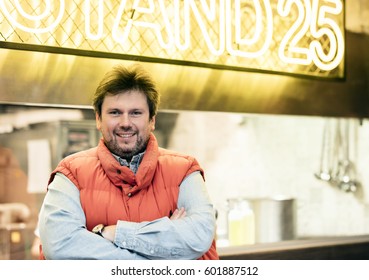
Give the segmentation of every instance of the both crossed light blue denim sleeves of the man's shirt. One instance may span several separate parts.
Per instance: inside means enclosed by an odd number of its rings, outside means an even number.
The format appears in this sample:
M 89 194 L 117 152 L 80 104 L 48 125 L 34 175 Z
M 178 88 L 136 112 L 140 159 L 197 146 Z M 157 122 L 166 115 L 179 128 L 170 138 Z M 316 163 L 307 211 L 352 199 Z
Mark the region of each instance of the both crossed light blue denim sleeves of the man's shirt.
M 182 182 L 177 205 L 186 209 L 186 217 L 118 221 L 111 242 L 86 229 L 79 191 L 58 173 L 39 216 L 44 255 L 46 259 L 197 259 L 209 249 L 215 235 L 213 205 L 199 172 Z

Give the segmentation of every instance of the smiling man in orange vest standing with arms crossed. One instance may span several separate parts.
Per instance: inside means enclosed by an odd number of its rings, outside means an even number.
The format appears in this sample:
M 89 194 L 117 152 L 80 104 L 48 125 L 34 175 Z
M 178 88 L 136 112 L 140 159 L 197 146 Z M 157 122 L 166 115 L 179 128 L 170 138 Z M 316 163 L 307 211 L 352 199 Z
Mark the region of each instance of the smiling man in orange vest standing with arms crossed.
M 53 171 L 40 212 L 46 259 L 218 259 L 214 209 L 196 159 L 158 147 L 159 93 L 139 66 L 94 95 L 97 147 Z

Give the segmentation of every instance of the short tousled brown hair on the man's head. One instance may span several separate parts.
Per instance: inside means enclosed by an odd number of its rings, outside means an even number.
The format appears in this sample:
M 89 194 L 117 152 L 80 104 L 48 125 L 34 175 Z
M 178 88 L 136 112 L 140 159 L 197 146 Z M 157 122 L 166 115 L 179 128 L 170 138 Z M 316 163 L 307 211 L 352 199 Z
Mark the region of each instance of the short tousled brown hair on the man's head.
M 139 64 L 129 67 L 117 65 L 105 74 L 93 97 L 95 112 L 101 116 L 101 106 L 106 95 L 130 90 L 138 90 L 146 95 L 150 119 L 154 117 L 158 111 L 160 94 L 151 76 Z

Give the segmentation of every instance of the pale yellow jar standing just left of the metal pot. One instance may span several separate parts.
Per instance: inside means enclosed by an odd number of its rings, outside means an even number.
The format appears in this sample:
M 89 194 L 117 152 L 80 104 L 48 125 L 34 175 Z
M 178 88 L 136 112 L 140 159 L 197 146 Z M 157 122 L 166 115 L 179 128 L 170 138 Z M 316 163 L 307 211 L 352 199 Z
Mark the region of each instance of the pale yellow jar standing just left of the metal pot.
M 228 240 L 229 245 L 255 243 L 255 217 L 247 199 L 228 199 Z

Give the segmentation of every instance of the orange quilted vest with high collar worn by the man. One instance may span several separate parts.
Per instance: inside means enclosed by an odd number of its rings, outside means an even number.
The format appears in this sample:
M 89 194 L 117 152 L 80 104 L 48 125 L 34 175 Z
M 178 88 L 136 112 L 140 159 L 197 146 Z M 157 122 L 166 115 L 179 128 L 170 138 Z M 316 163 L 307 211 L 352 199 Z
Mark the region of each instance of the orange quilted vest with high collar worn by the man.
M 91 230 L 100 223 L 152 221 L 169 216 L 177 208 L 179 185 L 194 171 L 203 175 L 195 158 L 159 148 L 151 134 L 136 175 L 119 164 L 101 139 L 98 147 L 64 159 L 50 182 L 61 172 L 78 187 L 86 226 Z M 219 259 L 214 240 L 200 259 Z

